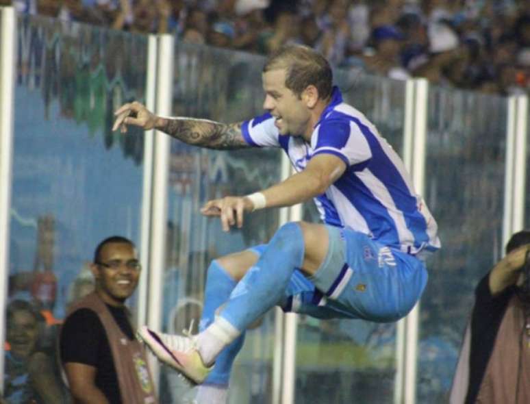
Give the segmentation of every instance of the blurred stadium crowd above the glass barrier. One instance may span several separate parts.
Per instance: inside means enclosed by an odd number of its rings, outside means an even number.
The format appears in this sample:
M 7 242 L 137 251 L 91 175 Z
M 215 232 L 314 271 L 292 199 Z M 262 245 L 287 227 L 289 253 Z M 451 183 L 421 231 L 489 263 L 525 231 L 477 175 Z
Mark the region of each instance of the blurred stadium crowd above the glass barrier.
M 525 93 L 524 0 L 0 0 L 19 12 L 267 54 L 303 43 L 335 66 L 442 86 Z

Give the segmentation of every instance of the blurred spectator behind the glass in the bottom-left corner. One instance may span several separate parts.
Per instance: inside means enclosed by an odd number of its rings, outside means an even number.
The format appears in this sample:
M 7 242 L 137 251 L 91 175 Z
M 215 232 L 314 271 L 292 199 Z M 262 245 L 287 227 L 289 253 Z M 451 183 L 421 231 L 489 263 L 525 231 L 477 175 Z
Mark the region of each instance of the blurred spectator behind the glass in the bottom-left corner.
M 44 318 L 27 301 L 8 305 L 3 398 L 10 404 L 60 404 L 66 395 L 53 356 L 38 348 Z

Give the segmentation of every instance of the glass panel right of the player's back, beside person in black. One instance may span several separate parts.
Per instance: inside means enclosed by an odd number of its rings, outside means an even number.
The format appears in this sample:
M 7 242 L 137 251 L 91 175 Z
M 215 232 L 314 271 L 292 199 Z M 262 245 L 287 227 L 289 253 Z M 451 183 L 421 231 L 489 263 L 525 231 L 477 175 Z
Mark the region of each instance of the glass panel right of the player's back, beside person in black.
M 442 249 L 427 262 L 421 301 L 418 403 L 446 403 L 478 281 L 502 245 L 507 103 L 429 89 L 425 199 Z

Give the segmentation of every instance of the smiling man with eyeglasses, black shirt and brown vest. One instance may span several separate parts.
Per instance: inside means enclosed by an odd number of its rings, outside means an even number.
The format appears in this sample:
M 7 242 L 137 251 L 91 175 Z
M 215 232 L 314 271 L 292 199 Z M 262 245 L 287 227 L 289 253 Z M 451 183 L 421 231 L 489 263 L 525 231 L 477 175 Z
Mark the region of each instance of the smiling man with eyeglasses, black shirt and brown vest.
M 140 278 L 133 242 L 106 238 L 90 269 L 96 288 L 73 305 L 60 336 L 61 361 L 75 403 L 157 403 L 147 358 L 125 306 Z

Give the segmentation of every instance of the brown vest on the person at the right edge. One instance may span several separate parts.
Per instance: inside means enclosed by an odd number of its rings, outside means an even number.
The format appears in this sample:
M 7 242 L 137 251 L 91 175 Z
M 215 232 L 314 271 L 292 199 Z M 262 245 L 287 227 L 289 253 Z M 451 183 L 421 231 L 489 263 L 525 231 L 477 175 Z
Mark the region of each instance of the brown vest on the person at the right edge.
M 530 403 L 530 335 L 517 296 L 509 301 L 496 336 L 476 403 Z

